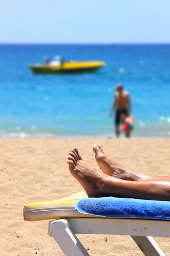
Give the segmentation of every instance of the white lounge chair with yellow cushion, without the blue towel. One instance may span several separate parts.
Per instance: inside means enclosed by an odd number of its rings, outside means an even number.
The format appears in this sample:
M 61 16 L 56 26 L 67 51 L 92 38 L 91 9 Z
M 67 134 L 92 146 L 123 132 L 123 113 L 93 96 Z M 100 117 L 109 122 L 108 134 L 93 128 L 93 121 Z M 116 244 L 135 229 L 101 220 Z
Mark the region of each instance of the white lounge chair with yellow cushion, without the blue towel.
M 75 234 L 128 235 L 145 256 L 165 256 L 152 236 L 170 237 L 170 221 L 84 214 L 75 209 L 79 198 L 87 198 L 87 195 L 79 192 L 57 201 L 28 204 L 24 207 L 24 219 L 37 221 L 59 218 L 49 222 L 48 235 L 55 239 L 66 256 L 89 255 Z

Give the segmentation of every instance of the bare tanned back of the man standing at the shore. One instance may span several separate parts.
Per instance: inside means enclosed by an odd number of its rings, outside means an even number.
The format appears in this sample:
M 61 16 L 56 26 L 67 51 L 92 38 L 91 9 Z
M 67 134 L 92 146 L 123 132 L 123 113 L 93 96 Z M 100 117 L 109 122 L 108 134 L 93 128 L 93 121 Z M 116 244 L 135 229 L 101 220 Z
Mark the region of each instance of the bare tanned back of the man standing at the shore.
M 127 105 L 130 103 L 129 94 L 126 91 L 121 93 L 115 93 L 115 106 L 118 109 L 126 109 Z

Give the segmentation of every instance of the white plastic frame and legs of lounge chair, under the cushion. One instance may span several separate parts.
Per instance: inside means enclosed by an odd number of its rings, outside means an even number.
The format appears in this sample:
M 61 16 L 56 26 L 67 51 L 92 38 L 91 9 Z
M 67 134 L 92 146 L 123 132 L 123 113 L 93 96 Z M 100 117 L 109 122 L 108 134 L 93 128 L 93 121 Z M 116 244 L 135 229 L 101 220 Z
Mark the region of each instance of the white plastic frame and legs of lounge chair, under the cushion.
M 75 234 L 128 235 L 145 256 L 165 256 L 152 236 L 170 237 L 170 221 L 136 218 L 66 218 L 50 221 L 52 236 L 66 256 L 89 256 Z

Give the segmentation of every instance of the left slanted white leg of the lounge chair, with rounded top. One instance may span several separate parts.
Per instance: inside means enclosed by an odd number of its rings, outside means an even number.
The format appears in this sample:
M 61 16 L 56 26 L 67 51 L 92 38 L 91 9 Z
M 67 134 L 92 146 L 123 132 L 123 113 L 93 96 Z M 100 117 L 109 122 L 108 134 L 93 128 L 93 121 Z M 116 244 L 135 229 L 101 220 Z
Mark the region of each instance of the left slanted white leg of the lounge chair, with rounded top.
M 71 225 L 65 219 L 50 222 L 49 236 L 52 236 L 66 256 L 89 256 L 77 236 L 71 230 Z

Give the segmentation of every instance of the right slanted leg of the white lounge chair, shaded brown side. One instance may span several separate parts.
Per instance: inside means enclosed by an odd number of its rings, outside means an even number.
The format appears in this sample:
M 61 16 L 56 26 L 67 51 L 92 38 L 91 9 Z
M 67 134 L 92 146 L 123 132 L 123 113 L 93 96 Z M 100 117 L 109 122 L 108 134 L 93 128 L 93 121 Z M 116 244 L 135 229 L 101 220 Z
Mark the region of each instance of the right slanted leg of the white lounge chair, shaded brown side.
M 165 256 L 152 236 L 131 236 L 145 256 Z

